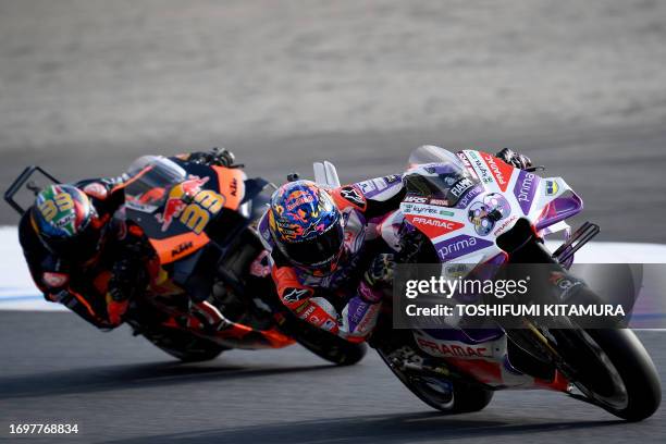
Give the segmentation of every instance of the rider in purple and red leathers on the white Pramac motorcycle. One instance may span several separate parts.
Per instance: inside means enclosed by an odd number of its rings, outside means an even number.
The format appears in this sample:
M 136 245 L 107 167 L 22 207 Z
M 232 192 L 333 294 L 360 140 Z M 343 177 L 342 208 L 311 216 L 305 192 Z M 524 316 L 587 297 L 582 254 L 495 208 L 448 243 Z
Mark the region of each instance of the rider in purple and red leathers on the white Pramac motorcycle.
M 531 165 L 508 149 L 497 157 Z M 295 181 L 275 190 L 258 229 L 282 303 L 312 325 L 365 341 L 393 280 L 397 246 L 382 232 L 398 229 L 391 218 L 404 197 L 402 175 L 335 188 Z

